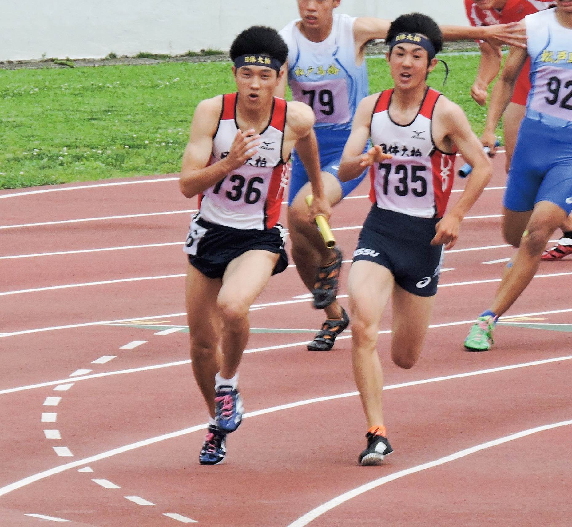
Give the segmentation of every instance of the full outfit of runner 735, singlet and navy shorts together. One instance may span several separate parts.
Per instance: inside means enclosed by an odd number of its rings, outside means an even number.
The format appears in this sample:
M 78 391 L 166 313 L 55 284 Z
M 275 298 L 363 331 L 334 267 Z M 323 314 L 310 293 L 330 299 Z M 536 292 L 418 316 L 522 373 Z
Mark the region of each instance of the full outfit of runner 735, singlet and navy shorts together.
M 418 296 L 437 292 L 443 245 L 430 244 L 451 195 L 455 152 L 442 152 L 432 138 L 431 118 L 440 93 L 428 88 L 419 113 L 407 125 L 392 121 L 393 90 L 380 93 L 370 136 L 392 159 L 370 168 L 367 216 L 353 260 L 387 267 L 395 282 Z

